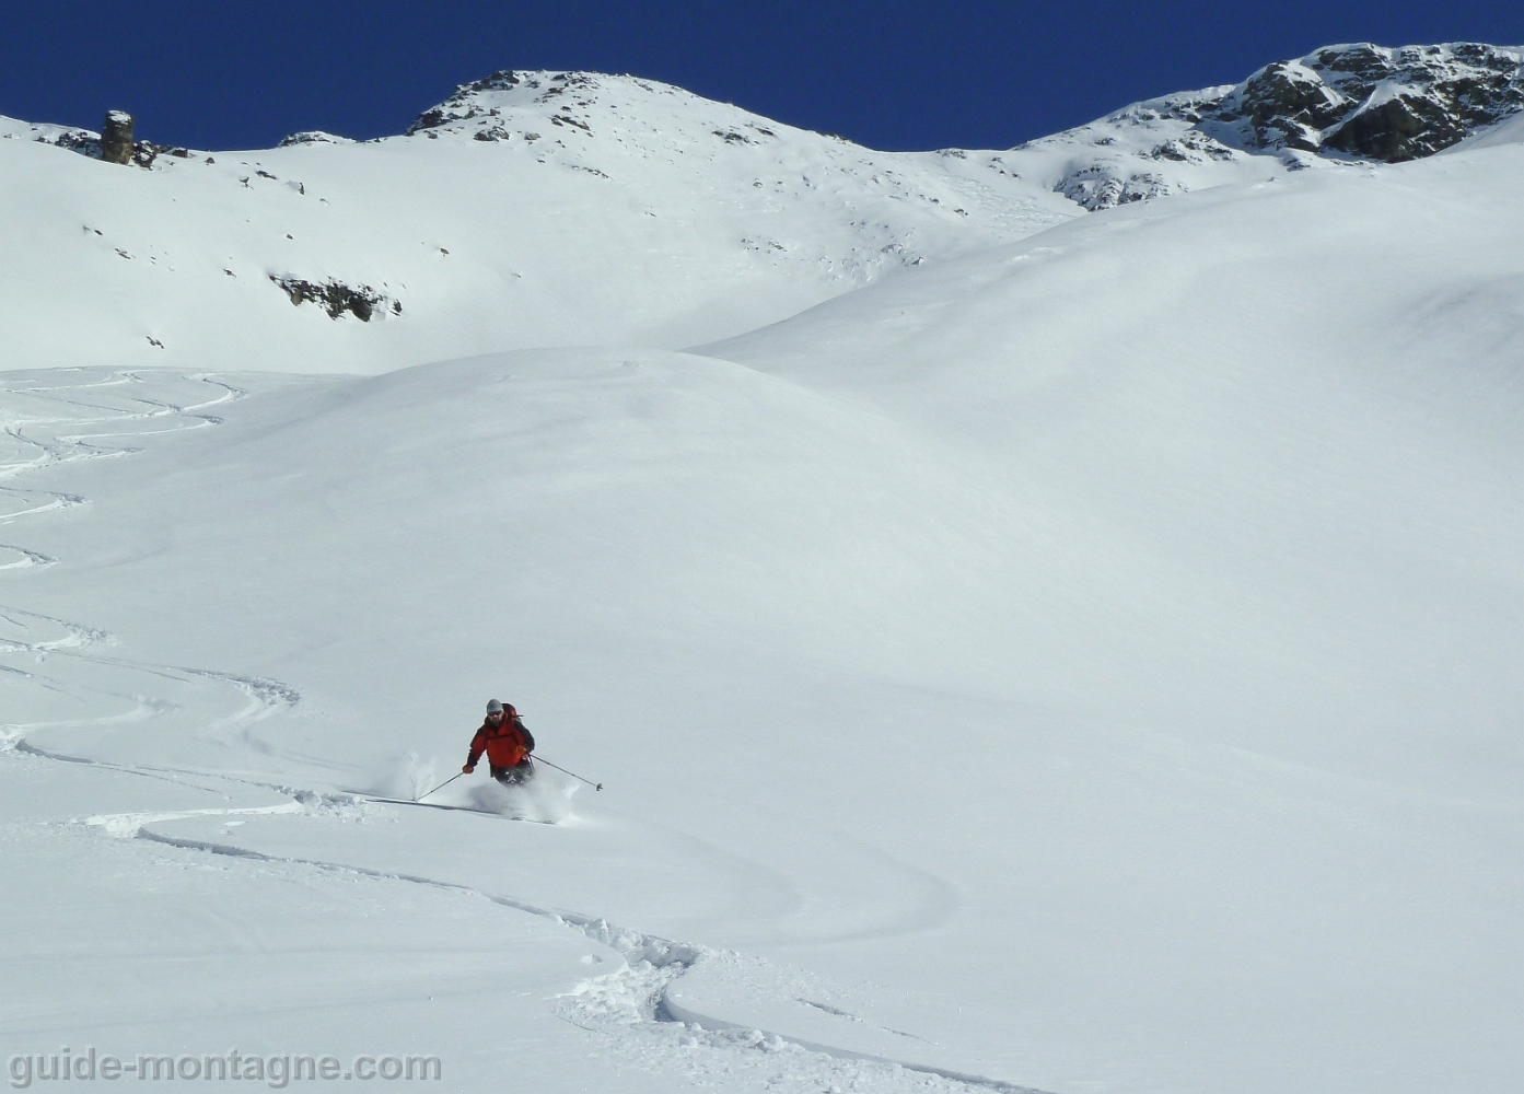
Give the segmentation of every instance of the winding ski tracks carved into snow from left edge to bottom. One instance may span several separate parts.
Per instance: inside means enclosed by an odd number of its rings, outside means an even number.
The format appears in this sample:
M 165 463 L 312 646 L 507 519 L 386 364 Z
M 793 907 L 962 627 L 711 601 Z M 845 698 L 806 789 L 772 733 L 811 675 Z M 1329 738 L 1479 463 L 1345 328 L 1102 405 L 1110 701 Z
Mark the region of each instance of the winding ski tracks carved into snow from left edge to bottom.
M 56 382 L 61 376 L 72 375 L 82 375 L 84 382 Z M 218 389 L 218 395 L 204 402 L 180 405 L 163 398 L 155 398 L 151 393 L 155 381 L 209 384 Z M 148 392 L 134 390 L 136 385 L 145 385 Z M 70 369 L 46 375 L 0 375 L 0 422 L 3 422 L 0 437 L 3 437 L 9 454 L 15 457 L 5 459 L 0 454 L 0 481 L 12 483 L 23 475 L 76 460 L 117 459 L 140 451 L 131 445 L 105 443 L 107 440 L 219 425 L 223 422 L 221 417 L 204 411 L 210 407 L 241 399 L 245 395 L 245 390 L 206 373 L 166 373 L 163 376 L 152 376 L 149 373 L 145 378 L 143 372 L 136 370 Z M 20 399 L 27 405 L 21 408 L 8 405 L 8 396 Z M 107 396 L 117 396 L 126 407 L 110 405 Z M 73 494 L 0 485 L 0 527 L 11 526 L 23 518 L 35 518 L 43 513 L 59 512 L 82 504 L 88 504 L 88 500 Z M 58 562 L 59 559 L 26 545 L 14 542 L 0 544 L 0 573 L 11 579 L 20 577 L 29 570 L 52 567 Z M 23 655 L 27 660 L 37 661 L 49 655 L 66 657 L 75 664 L 96 664 L 137 673 L 146 678 L 149 687 L 158 680 L 192 687 L 219 686 L 230 689 L 241 696 L 241 705 L 224 718 L 215 719 L 209 728 L 218 737 L 236 736 L 241 744 L 256 753 L 274 754 L 276 750 L 253 734 L 253 725 L 294 707 L 302 699 L 297 689 L 274 680 L 242 677 L 218 669 L 137 663 L 126 658 L 107 657 L 99 652 L 101 648 L 113 646 L 114 643 L 116 640 L 108 632 L 88 625 L 0 605 L 0 657 Z M 378 805 L 367 803 L 363 795 L 357 794 L 322 794 L 311 789 L 215 771 L 114 763 L 40 748 L 27 742 L 27 730 L 44 727 L 98 728 L 113 724 L 142 722 L 171 710 L 178 710 L 181 704 L 152 695 L 130 693 L 108 686 L 64 680 L 53 673 L 37 672 L 3 661 L 0 661 L 0 675 L 73 698 L 111 698 L 131 704 L 120 713 L 90 719 L 0 725 L 0 753 L 20 753 L 38 760 L 81 763 L 143 779 L 160 779 L 203 789 L 219 797 L 226 797 L 226 791 L 216 785 L 206 783 L 238 783 L 248 788 L 274 791 L 291 798 L 288 803 L 276 806 L 102 814 L 76 818 L 70 823 L 98 827 L 111 838 L 148 840 L 180 850 L 227 855 L 250 862 L 293 868 L 360 875 L 383 882 L 428 885 L 485 899 L 515 913 L 549 919 L 579 931 L 588 939 L 614 949 L 623 958 L 620 969 L 581 981 L 572 992 L 561 996 L 556 1004 L 556 1012 L 561 1018 L 590 1033 L 616 1041 L 629 1036 L 655 1036 L 658 1039 L 657 1054 L 668 1057 L 681 1054 L 681 1062 L 689 1070 L 695 1067 L 695 1053 L 707 1053 L 713 1057 L 709 1070 L 716 1076 L 727 1070 L 727 1060 L 735 1053 L 762 1053 L 770 1057 L 771 1064 L 780 1067 L 791 1064 L 792 1067 L 783 1067 L 785 1071 L 794 1073 L 791 1077 L 808 1080 L 818 1089 L 858 1089 L 860 1083 L 869 1082 L 878 1088 L 908 1089 L 913 1086 L 917 1091 L 968 1091 L 972 1088 L 998 1091 L 1000 1094 L 1044 1094 L 1042 1091 L 998 1079 L 986 1079 L 983 1076 L 963 1074 L 922 1064 L 855 1053 L 826 1044 L 785 1038 L 767 1030 L 736 1025 L 712 1015 L 687 1010 L 669 998 L 669 987 L 701 960 L 736 958 L 736 955 L 713 951 L 701 945 L 642 934 L 640 931 L 616 926 L 600 916 L 544 908 L 512 896 L 488 893 L 469 885 L 421 875 L 322 859 L 274 856 L 233 844 L 184 840 L 149 830 L 149 824 L 166 824 L 194 817 L 312 814 L 378 808 Z M 315 760 L 317 757 L 305 759 Z M 838 1007 L 806 998 L 796 1001 L 847 1021 L 864 1022 L 856 1015 Z M 920 1039 L 916 1035 L 902 1033 L 901 1030 L 885 1028 L 884 1032 L 902 1038 Z M 651 1048 L 651 1044 L 648 1042 L 646 1047 Z M 910 1073 L 914 1079 L 911 1080 L 904 1073 Z

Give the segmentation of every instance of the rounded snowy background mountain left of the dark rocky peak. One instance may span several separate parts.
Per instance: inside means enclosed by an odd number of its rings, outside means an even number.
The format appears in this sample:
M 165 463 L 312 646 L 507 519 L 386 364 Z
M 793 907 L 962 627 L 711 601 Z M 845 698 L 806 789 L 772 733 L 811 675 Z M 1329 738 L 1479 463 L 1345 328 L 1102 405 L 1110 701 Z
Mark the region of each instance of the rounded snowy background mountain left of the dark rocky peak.
M 9 123 L 0 184 L 29 210 L 0 226 L 9 367 L 56 364 L 62 317 L 72 364 L 373 373 L 678 347 L 1079 212 L 956 155 L 872 152 L 628 76 L 479 85 L 447 107 L 480 119 L 149 171 Z M 271 279 L 369 294 L 373 315 L 293 308 Z

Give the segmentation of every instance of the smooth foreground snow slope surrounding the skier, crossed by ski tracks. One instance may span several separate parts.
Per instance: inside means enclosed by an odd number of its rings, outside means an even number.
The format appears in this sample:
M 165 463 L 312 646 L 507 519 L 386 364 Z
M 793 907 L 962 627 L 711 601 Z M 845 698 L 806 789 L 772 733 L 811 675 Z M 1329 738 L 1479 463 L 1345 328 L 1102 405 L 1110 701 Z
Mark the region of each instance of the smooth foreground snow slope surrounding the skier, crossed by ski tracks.
M 686 352 L 0 373 L 0 1045 L 1512 1091 L 1521 169 L 1132 203 Z M 607 789 L 363 800 L 491 695 Z

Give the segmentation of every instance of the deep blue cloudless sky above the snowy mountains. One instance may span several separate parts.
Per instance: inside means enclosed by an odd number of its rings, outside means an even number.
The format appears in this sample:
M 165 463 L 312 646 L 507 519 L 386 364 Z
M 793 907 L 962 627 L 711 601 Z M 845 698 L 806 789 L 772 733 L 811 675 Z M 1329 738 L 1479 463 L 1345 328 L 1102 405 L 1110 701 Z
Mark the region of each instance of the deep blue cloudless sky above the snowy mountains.
M 884 149 L 1004 148 L 1317 46 L 1524 43 L 1524 5 L 14 0 L 0 114 L 268 146 L 399 133 L 497 69 L 629 72 Z

